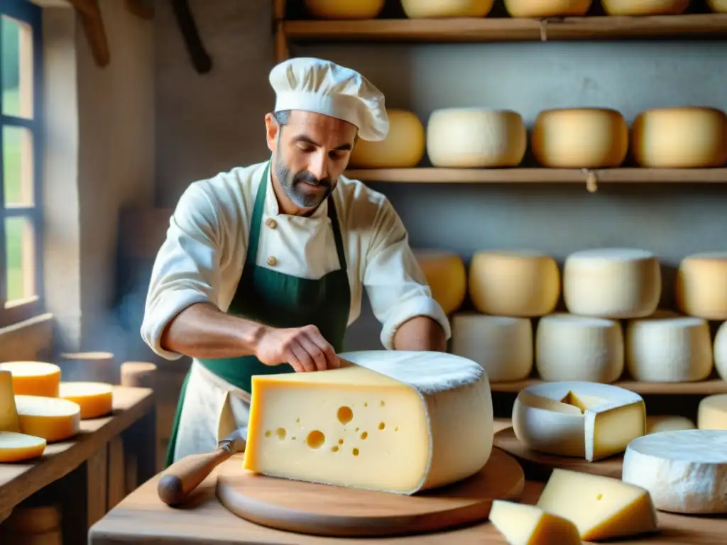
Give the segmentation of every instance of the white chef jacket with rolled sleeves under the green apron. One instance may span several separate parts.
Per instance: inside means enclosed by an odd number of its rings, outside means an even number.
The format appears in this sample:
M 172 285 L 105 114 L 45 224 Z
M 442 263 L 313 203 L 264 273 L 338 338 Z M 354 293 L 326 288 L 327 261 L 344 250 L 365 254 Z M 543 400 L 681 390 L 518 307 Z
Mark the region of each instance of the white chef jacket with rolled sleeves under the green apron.
M 228 309 L 245 265 L 252 209 L 266 163 L 193 182 L 177 203 L 154 262 L 141 327 L 142 338 L 161 357 L 182 356 L 160 346 L 164 328 L 179 312 L 198 302 Z M 340 269 L 329 200 L 309 217 L 283 214 L 271 174 L 265 183 L 255 265 L 312 279 Z M 348 265 L 348 325 L 361 314 L 365 286 L 387 350 L 393 349 L 397 328 L 415 316 L 436 320 L 449 339 L 449 320 L 432 298 L 406 229 L 385 195 L 341 176 L 332 198 Z

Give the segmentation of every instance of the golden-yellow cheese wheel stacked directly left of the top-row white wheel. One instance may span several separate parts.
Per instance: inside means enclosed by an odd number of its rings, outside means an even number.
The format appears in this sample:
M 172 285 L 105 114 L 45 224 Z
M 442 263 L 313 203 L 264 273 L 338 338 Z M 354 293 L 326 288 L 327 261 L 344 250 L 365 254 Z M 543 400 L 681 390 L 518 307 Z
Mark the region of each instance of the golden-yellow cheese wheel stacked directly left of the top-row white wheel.
M 542 316 L 561 296 L 555 259 L 534 250 L 478 251 L 470 262 L 469 292 L 475 308 L 499 316 Z

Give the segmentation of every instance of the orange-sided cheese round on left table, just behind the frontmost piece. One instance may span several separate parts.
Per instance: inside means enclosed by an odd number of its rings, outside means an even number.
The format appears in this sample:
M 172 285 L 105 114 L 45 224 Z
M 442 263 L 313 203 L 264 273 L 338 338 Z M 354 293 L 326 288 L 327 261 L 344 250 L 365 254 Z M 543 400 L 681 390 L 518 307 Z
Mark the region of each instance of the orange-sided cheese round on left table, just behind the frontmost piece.
M 70 439 L 81 431 L 81 407 L 60 397 L 16 395 L 20 432 L 48 443 Z

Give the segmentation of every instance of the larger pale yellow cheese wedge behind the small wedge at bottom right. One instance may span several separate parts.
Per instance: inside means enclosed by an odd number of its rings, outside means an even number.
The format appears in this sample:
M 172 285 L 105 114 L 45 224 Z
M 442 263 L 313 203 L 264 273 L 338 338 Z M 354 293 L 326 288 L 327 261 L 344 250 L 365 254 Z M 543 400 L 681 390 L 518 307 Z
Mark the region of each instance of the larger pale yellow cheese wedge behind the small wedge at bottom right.
M 553 469 L 537 506 L 573 522 L 583 541 L 637 536 L 658 528 L 648 491 L 603 475 Z

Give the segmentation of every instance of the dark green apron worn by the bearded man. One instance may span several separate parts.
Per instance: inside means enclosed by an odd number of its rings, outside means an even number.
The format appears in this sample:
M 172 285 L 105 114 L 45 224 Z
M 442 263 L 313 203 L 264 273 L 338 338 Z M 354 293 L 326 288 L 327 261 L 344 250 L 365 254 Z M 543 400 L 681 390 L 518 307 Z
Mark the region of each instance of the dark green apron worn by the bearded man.
M 333 198 L 329 198 L 328 217 L 331 220 L 336 242 L 339 270 L 334 270 L 318 280 L 311 280 L 278 273 L 265 267 L 257 267 L 255 265 L 257 244 L 260 239 L 260 225 L 265 207 L 269 170 L 270 162 L 268 161 L 255 196 L 245 265 L 235 296 L 230 302 L 228 313 L 276 328 L 294 328 L 312 324 L 321 331 L 336 352 L 342 352 L 350 312 L 350 286 L 346 272 L 343 239 Z M 212 373 L 248 393 L 252 391 L 251 382 L 254 375 L 294 372 L 288 363 L 266 366 L 254 356 L 216 358 L 198 360 L 198 362 Z M 177 412 L 172 425 L 172 436 L 169 438 L 169 446 L 166 451 L 167 467 L 174 461 L 177 430 L 189 376 L 188 373 L 180 390 Z

